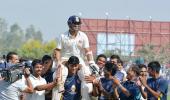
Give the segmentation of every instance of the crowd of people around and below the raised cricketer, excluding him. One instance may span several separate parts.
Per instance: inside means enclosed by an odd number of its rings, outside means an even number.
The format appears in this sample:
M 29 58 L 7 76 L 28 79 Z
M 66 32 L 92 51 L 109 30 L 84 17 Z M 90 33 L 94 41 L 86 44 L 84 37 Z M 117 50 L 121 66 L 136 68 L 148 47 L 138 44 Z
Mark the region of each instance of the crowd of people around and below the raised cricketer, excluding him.
M 10 52 L 0 68 L 21 63 L 17 53 Z M 98 55 L 96 65 L 98 73 L 85 76 L 87 83 L 93 84 L 88 92 L 92 100 L 167 100 L 168 81 L 160 75 L 158 61 L 145 64 L 131 64 L 125 70 L 118 55 L 110 60 L 104 54 Z M 81 100 L 81 68 L 79 58 L 71 56 L 62 67 L 56 67 L 53 58 L 44 55 L 41 60 L 33 59 L 31 66 L 23 66 L 21 79 L 9 83 L 0 77 L 0 98 L 2 100 Z M 63 81 L 64 80 L 64 81 Z M 63 84 L 63 87 L 62 85 Z M 57 89 L 58 92 L 53 93 Z M 54 95 L 60 95 L 55 98 Z M 57 96 L 58 97 L 58 96 Z

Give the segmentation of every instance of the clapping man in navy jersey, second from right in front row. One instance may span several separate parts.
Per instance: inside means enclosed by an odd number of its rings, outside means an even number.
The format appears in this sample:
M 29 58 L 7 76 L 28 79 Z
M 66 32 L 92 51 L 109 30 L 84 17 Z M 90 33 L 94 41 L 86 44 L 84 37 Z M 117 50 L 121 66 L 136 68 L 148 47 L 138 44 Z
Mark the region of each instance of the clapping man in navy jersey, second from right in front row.
M 140 100 L 141 92 L 137 83 L 139 76 L 139 68 L 136 65 L 131 65 L 127 71 L 127 81 L 122 82 L 117 78 L 113 78 L 114 83 L 117 85 L 117 98 L 120 100 Z

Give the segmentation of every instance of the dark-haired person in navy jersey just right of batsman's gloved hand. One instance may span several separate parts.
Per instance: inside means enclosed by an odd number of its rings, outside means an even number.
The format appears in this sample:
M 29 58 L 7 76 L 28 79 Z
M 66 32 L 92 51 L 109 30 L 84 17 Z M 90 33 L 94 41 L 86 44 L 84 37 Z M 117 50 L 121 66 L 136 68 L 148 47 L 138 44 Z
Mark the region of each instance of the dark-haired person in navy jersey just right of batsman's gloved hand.
M 116 73 L 116 65 L 110 62 L 106 62 L 104 67 L 104 77 L 100 78 L 99 81 L 95 80 L 93 82 L 94 89 L 93 95 L 98 96 L 98 100 L 115 100 L 116 96 L 114 81 L 112 77 Z

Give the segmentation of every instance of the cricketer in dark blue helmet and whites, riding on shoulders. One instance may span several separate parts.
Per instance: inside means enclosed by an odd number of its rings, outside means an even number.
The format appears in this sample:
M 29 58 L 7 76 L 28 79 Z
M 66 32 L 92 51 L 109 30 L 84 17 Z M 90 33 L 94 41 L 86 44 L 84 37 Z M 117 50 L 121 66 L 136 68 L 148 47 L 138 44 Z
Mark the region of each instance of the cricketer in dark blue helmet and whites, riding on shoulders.
M 95 67 L 94 69 L 99 70 L 95 65 L 92 51 L 89 47 L 89 40 L 86 33 L 80 31 L 81 19 L 80 17 L 73 15 L 70 16 L 67 21 L 69 30 L 57 39 L 57 47 L 55 52 L 56 66 L 60 66 L 64 61 L 68 61 L 69 57 L 77 56 L 80 60 L 82 67 L 80 68 L 78 74 L 80 80 L 82 81 L 81 92 L 82 100 L 90 100 L 89 93 L 92 92 L 92 83 L 86 83 L 84 81 L 85 75 L 91 75 L 90 67 Z M 87 58 L 89 65 L 85 64 L 83 58 Z

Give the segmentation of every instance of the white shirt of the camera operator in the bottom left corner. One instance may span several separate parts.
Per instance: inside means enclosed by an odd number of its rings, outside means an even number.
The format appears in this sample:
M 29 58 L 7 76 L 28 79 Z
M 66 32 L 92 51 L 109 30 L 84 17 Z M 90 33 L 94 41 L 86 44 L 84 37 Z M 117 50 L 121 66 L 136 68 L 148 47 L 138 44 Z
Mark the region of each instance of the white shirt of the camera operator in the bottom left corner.
M 25 79 L 17 80 L 9 84 L 8 82 L 0 81 L 0 100 L 20 100 L 22 91 L 27 88 Z

